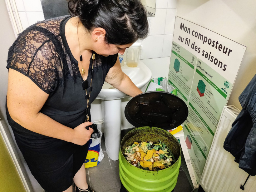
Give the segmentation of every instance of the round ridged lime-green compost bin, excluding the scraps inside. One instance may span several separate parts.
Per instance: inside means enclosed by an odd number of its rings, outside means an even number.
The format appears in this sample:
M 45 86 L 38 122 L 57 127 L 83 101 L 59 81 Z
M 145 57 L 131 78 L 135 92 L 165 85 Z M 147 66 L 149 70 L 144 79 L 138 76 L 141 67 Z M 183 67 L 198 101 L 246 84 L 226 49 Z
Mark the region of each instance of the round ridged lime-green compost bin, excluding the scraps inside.
M 123 153 L 127 146 L 134 142 L 152 141 L 165 143 L 177 160 L 171 167 L 148 171 L 131 165 Z M 157 127 L 139 127 L 128 132 L 121 141 L 119 151 L 119 176 L 122 184 L 129 192 L 171 192 L 178 180 L 180 170 L 180 145 L 168 131 Z

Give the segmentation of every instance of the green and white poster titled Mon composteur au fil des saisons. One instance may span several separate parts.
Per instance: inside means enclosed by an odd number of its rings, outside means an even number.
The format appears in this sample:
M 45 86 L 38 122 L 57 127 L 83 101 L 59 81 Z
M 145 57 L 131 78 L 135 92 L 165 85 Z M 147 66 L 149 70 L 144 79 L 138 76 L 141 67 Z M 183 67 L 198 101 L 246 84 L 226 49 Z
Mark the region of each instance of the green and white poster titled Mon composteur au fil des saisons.
M 175 19 L 168 83 L 189 108 L 184 134 L 198 183 L 245 50 L 209 29 Z

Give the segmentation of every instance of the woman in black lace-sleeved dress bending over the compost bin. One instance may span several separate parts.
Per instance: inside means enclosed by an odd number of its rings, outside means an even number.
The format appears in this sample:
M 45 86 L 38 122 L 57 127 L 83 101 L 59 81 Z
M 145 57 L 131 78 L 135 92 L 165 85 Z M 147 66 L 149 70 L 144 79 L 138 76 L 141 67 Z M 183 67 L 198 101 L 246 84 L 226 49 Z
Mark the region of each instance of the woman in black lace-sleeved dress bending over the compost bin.
M 90 104 L 104 81 L 134 97 L 118 54 L 148 34 L 139 0 L 70 0 L 71 17 L 38 22 L 10 47 L 7 117 L 31 173 L 47 192 L 93 192 L 84 161 Z M 85 122 L 86 121 L 86 122 Z

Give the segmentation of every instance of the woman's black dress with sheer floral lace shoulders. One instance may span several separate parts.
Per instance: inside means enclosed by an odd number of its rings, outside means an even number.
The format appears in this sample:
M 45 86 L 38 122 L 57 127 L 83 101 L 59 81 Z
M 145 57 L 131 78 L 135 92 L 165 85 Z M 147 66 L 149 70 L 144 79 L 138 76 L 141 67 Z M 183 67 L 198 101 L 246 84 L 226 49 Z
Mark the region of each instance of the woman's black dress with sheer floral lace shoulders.
M 10 47 L 7 68 L 21 72 L 49 94 L 41 113 L 75 128 L 84 122 L 87 101 L 78 62 L 65 38 L 65 24 L 69 18 L 63 16 L 38 22 L 19 34 Z M 117 54 L 108 57 L 96 54 L 90 104 L 101 91 L 106 74 L 116 60 Z M 92 59 L 88 77 L 91 77 L 91 68 Z M 80 146 L 27 130 L 12 120 L 7 106 L 6 112 L 17 145 L 42 188 L 61 192 L 70 187 L 86 159 L 88 145 Z

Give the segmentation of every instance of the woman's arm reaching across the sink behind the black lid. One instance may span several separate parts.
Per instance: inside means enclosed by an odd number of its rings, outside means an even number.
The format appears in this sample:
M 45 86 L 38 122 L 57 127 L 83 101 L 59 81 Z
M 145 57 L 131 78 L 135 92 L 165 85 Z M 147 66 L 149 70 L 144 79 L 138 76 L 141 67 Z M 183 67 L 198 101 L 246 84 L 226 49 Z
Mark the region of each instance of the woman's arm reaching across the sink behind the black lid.
M 105 81 L 131 97 L 135 97 L 142 93 L 142 91 L 140 91 L 140 89 L 136 87 L 130 78 L 122 71 L 118 58 L 115 65 L 108 71 Z

